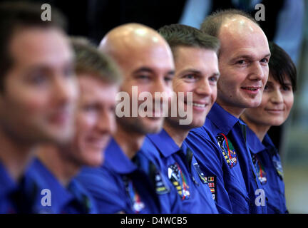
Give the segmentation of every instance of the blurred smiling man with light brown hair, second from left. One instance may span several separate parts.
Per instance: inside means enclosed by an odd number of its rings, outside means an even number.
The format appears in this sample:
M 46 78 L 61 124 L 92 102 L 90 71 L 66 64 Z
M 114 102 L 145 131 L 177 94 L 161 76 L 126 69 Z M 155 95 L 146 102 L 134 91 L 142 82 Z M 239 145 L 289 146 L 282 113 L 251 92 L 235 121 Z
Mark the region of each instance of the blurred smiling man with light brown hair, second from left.
M 75 134 L 66 145 L 41 145 L 26 172 L 26 192 L 33 213 L 97 213 L 91 195 L 73 179 L 83 165 L 98 166 L 116 130 L 116 64 L 83 38 L 73 39 L 79 96 L 73 118 Z M 72 69 L 73 71 L 73 69 Z M 63 121 L 58 117 L 58 121 Z M 56 120 L 55 120 L 56 121 Z

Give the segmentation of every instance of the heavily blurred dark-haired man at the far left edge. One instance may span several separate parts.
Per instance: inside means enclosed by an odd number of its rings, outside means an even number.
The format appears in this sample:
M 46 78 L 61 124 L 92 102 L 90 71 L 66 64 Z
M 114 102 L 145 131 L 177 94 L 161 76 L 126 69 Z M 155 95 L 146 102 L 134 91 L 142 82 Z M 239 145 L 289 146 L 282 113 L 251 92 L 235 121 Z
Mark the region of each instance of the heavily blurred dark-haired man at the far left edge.
M 29 213 L 24 172 L 36 145 L 73 135 L 73 52 L 56 9 L 51 21 L 41 12 L 38 4 L 0 5 L 0 213 Z

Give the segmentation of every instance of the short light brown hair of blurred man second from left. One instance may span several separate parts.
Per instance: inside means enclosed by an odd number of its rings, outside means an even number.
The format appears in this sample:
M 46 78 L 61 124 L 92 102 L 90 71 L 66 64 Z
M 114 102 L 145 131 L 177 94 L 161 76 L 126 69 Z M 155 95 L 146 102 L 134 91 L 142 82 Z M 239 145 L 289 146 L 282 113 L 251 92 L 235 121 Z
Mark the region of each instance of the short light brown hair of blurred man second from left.
M 107 83 L 120 83 L 122 77 L 116 63 L 98 51 L 88 39 L 72 37 L 71 44 L 75 51 L 75 71 L 78 74 L 91 73 Z

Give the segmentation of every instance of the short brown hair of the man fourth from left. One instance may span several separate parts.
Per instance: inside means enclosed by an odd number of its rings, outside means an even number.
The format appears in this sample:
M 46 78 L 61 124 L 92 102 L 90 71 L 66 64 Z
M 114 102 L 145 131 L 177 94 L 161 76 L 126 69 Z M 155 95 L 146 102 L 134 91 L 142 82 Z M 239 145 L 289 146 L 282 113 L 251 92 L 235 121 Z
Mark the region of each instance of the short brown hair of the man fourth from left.
M 216 53 L 220 48 L 220 41 L 214 36 L 207 35 L 197 28 L 183 24 L 163 26 L 158 29 L 158 33 L 168 42 L 173 55 L 175 55 L 175 48 L 178 46 L 205 48 Z

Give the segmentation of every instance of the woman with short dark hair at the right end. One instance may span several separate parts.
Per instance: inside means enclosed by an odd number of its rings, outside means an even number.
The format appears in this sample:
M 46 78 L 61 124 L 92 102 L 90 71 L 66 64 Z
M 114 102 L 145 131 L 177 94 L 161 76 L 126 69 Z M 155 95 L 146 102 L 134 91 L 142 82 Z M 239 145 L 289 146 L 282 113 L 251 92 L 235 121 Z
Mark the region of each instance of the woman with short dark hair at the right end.
M 284 182 L 279 153 L 267 131 L 287 120 L 294 101 L 297 70 L 288 54 L 275 43 L 270 44 L 269 78 L 257 108 L 247 108 L 241 118 L 247 126 L 255 170 L 265 190 L 268 213 L 287 213 Z

